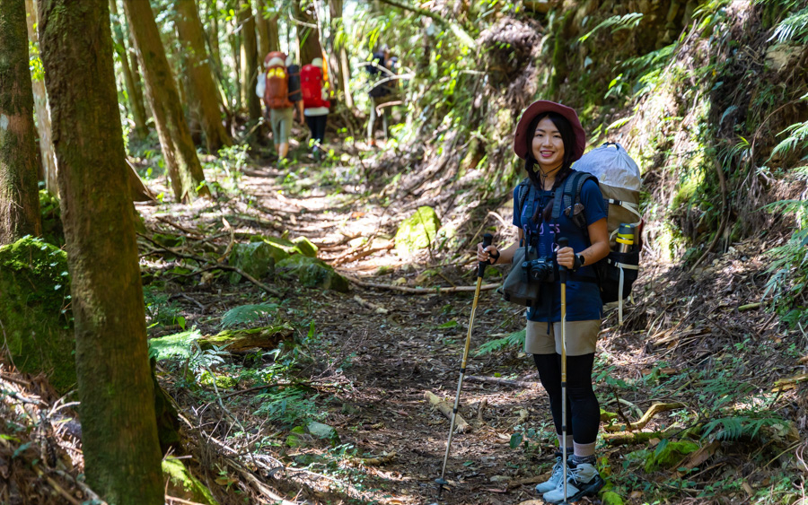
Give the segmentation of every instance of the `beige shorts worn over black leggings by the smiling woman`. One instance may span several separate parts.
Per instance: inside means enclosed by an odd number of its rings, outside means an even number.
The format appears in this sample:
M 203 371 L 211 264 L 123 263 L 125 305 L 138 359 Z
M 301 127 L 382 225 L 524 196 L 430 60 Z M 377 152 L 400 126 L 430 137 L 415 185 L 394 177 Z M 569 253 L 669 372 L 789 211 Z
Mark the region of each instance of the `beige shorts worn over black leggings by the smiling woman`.
M 566 322 L 566 355 L 581 356 L 595 352 L 598 333 L 601 331 L 601 320 L 567 321 Z M 561 323 L 550 325 L 547 334 L 547 323 L 527 322 L 524 337 L 524 352 L 528 354 L 561 353 Z

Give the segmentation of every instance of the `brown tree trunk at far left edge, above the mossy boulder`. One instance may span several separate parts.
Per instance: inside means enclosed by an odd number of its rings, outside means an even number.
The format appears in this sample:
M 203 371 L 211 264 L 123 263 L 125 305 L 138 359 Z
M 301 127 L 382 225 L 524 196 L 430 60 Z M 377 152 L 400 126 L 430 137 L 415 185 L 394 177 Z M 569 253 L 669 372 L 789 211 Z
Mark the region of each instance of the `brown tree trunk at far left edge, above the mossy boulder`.
M 0 245 L 42 230 L 35 138 L 25 0 L 0 0 Z

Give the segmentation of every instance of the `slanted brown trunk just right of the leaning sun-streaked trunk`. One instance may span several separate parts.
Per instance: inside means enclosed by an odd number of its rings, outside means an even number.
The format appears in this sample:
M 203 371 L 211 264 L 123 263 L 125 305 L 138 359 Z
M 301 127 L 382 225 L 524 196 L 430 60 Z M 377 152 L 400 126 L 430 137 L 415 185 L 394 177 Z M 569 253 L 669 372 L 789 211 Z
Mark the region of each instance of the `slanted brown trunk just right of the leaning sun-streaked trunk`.
M 182 54 L 186 61 L 186 83 L 189 93 L 189 106 L 197 109 L 202 130 L 205 132 L 207 152 L 218 152 L 225 145 L 233 145 L 230 135 L 224 130 L 219 100 L 216 100 L 216 86 L 207 62 L 205 33 L 199 20 L 197 3 L 194 0 L 177 0 L 177 33 L 182 44 Z

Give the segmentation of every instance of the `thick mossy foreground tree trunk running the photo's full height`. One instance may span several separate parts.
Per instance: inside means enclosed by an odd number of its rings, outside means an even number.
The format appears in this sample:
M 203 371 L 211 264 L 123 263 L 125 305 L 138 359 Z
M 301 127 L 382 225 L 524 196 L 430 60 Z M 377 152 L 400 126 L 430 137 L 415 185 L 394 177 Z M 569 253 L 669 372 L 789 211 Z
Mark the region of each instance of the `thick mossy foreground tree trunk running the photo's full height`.
M 84 468 L 87 482 L 109 503 L 162 505 L 108 1 L 40 4 L 42 61 L 61 167 Z

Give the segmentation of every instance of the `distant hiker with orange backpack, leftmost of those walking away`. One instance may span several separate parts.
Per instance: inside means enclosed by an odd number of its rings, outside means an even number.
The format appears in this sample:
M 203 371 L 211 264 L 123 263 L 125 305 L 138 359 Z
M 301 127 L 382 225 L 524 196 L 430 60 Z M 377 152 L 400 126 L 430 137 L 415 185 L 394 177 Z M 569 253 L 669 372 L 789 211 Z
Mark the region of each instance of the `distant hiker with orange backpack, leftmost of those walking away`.
M 272 127 L 272 141 L 277 149 L 278 165 L 289 153 L 289 138 L 292 136 L 294 109 L 302 108 L 299 74 L 292 74 L 292 57 L 280 51 L 272 51 L 264 58 L 265 74 L 259 77 L 256 94 L 264 100 Z M 301 117 L 303 116 L 301 109 Z

